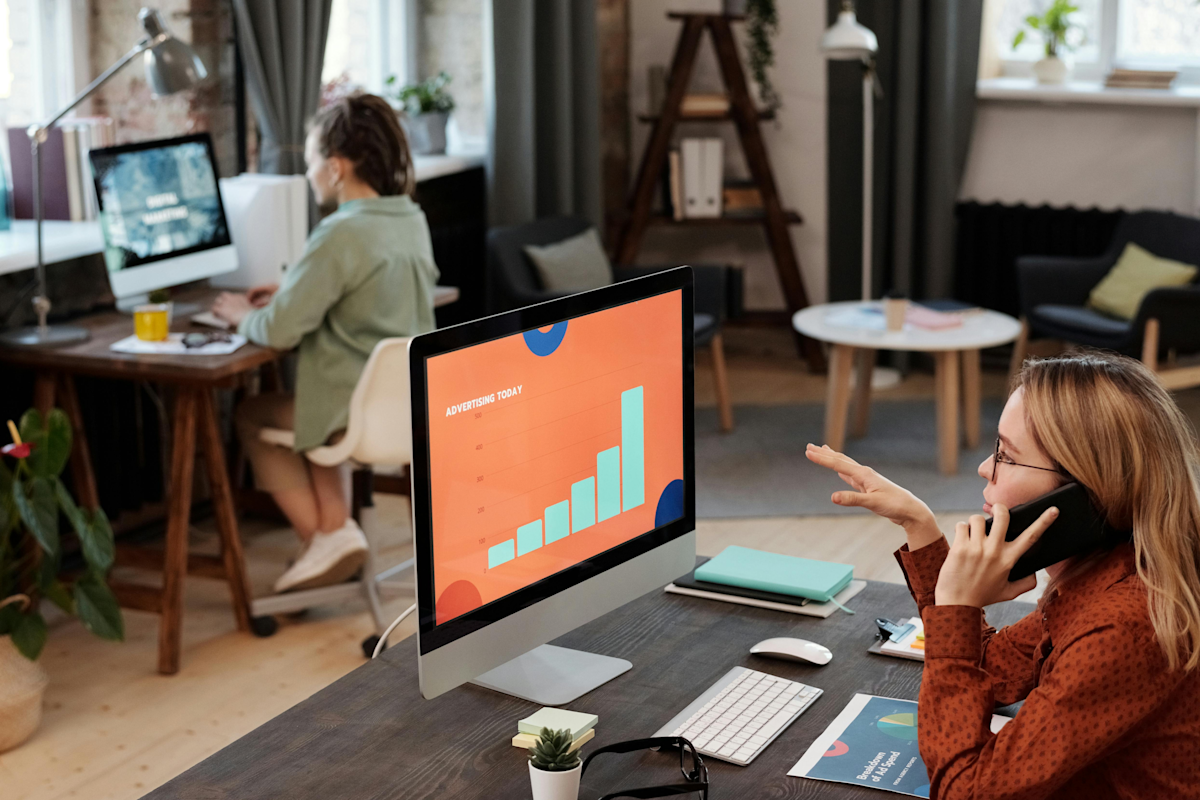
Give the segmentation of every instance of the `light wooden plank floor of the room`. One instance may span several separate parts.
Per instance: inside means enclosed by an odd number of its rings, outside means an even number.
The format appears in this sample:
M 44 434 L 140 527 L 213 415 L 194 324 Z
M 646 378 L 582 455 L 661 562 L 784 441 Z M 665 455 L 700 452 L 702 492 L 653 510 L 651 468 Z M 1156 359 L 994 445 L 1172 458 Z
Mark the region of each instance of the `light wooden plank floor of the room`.
M 728 349 L 736 404 L 824 398 L 823 378 L 804 372 L 786 333 L 730 336 Z M 697 361 L 697 403 L 710 404 L 707 354 Z M 986 373 L 986 393 L 1003 387 L 1002 373 Z M 932 377 L 911 375 L 888 395 L 931 397 Z M 943 515 L 943 530 L 962 517 Z M 407 558 L 403 499 L 380 497 L 370 530 L 385 543 L 385 561 Z M 901 582 L 892 552 L 902 533 L 870 515 L 701 521 L 697 531 L 702 554 L 737 543 L 853 564 L 856 577 Z M 294 555 L 294 537 L 252 521 L 242 533 L 256 594 L 266 594 Z M 206 525 L 193 539 L 197 548 L 215 541 Z M 397 597 L 388 609 L 398 614 L 410 602 Z M 101 642 L 72 620 L 53 624 L 42 656 L 50 674 L 44 721 L 29 742 L 0 756 L 0 798 L 139 798 L 361 664 L 359 643 L 372 632 L 361 607 L 348 606 L 284 621 L 274 637 L 257 639 L 235 630 L 223 584 L 192 579 L 182 669 L 166 678 L 154 670 L 157 618 L 126 612 L 125 619 L 122 644 Z M 414 620 L 394 639 L 412 634 Z

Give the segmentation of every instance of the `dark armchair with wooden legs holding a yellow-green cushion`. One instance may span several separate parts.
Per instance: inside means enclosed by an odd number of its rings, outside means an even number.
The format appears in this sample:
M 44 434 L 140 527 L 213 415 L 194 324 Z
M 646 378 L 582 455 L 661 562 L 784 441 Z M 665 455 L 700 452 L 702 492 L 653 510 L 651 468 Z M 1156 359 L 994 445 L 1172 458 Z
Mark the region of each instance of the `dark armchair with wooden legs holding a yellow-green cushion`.
M 1141 356 L 1158 371 L 1164 351 L 1200 353 L 1200 284 L 1154 289 L 1132 320 L 1115 319 L 1086 306 L 1087 296 L 1108 275 L 1128 242 L 1184 264 L 1200 265 L 1200 219 L 1163 211 L 1127 213 L 1103 255 L 1055 258 L 1026 255 L 1016 260 L 1021 338 L 1013 350 L 1013 369 L 1020 368 L 1031 338 L 1061 339 L 1073 344 Z M 1158 371 L 1169 389 L 1200 384 L 1200 368 Z

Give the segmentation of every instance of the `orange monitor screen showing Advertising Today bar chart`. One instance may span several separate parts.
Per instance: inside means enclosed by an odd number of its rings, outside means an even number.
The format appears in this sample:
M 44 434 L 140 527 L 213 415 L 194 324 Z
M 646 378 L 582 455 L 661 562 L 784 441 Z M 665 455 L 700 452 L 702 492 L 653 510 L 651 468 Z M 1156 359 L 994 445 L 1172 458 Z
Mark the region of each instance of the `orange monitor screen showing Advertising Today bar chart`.
M 683 515 L 682 302 L 428 360 L 439 625 Z

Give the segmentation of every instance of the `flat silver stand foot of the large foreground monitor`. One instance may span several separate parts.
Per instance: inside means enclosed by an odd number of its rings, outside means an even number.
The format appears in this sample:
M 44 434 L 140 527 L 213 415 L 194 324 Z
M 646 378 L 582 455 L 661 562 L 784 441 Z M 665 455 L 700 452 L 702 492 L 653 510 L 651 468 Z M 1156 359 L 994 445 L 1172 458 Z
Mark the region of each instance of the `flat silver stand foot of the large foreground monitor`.
M 472 682 L 539 705 L 565 705 L 632 668 L 624 658 L 544 644 Z

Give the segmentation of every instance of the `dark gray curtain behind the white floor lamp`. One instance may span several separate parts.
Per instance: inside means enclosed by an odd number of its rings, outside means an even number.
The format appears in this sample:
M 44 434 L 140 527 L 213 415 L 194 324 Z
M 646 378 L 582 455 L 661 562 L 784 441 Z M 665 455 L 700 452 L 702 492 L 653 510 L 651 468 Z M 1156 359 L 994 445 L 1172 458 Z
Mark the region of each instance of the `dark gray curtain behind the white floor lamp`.
M 828 0 L 829 22 L 840 2 Z M 875 294 L 954 294 L 954 205 L 974 126 L 982 0 L 858 0 L 880 40 Z M 830 62 L 829 300 L 862 296 L 862 72 Z

